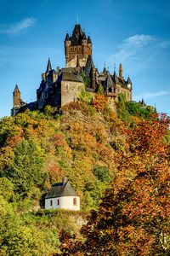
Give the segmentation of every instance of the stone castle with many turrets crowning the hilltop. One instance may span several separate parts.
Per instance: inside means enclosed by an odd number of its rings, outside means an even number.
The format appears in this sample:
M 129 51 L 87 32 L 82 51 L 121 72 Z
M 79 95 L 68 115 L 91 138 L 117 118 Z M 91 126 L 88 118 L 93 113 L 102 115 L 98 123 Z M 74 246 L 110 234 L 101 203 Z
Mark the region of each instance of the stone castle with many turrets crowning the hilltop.
M 98 92 L 99 86 L 103 87 L 105 96 L 113 101 L 117 100 L 120 93 L 124 93 L 127 101 L 132 100 L 132 82 L 128 77 L 123 78 L 122 64 L 119 66 L 119 74 L 116 71 L 111 75 L 104 67 L 103 72 L 94 66 L 92 56 L 92 41 L 76 24 L 72 35 L 68 32 L 65 36 L 65 67 L 53 69 L 48 59 L 45 73 L 42 73 L 42 81 L 37 89 L 37 101 L 26 103 L 20 96 L 18 85 L 13 92 L 13 108 L 11 114 L 30 110 L 43 109 L 46 105 L 62 107 L 67 103 L 77 101 L 81 90 Z

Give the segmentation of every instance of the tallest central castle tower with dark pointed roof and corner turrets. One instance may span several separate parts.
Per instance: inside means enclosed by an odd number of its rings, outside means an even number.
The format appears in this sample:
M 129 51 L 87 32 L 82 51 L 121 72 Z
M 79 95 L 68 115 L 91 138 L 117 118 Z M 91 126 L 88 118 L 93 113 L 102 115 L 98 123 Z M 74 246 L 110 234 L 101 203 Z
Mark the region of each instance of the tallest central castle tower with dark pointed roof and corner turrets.
M 77 67 L 77 59 L 80 67 L 85 67 L 88 55 L 92 55 L 92 41 L 79 24 L 75 25 L 72 36 L 68 32 L 65 37 L 65 65 L 66 67 Z

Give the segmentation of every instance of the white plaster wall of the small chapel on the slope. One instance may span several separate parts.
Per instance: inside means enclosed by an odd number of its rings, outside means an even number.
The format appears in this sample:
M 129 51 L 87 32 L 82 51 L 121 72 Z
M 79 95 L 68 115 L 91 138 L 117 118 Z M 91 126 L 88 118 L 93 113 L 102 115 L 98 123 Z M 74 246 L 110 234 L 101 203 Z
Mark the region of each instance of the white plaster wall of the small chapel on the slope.
M 77 206 L 73 205 L 73 199 L 77 198 Z M 57 201 L 59 199 L 59 206 Z M 53 201 L 53 205 L 50 206 L 50 201 Z M 80 210 L 80 197 L 79 196 L 61 196 L 55 198 L 45 199 L 45 209 L 67 209 L 67 210 Z

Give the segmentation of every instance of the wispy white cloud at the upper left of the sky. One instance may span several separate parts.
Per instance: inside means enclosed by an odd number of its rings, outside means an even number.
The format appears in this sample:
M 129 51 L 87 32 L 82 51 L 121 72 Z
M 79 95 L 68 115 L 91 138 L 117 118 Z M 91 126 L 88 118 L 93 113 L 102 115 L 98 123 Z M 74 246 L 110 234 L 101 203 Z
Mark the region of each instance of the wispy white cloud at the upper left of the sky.
M 26 18 L 24 20 L 20 20 L 20 22 L 16 22 L 10 25 L 1 25 L 0 26 L 0 34 L 5 35 L 17 35 L 20 32 L 25 31 L 31 26 L 36 24 L 36 19 L 34 18 Z

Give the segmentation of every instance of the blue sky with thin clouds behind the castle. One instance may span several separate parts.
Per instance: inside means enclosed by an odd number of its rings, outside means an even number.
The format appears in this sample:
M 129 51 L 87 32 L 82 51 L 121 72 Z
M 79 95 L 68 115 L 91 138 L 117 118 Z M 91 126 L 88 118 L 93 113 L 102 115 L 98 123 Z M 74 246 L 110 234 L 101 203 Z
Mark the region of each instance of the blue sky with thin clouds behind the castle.
M 48 57 L 65 66 L 65 33 L 77 15 L 99 71 L 122 62 L 133 100 L 170 114 L 170 1 L 0 0 L 0 117 L 10 114 L 16 83 L 24 101 L 36 100 Z

